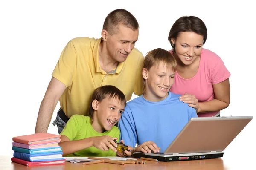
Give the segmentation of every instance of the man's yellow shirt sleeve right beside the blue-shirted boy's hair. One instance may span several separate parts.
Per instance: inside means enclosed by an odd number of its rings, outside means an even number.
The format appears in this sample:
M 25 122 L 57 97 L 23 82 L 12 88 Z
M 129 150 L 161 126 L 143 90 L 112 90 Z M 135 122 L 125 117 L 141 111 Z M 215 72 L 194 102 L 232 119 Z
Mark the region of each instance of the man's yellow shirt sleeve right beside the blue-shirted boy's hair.
M 134 94 L 138 96 L 143 94 L 143 77 L 142 77 L 143 62 L 144 62 L 144 57 L 143 55 L 140 55 L 138 59 L 137 72 L 136 72 L 135 85 L 134 85 Z

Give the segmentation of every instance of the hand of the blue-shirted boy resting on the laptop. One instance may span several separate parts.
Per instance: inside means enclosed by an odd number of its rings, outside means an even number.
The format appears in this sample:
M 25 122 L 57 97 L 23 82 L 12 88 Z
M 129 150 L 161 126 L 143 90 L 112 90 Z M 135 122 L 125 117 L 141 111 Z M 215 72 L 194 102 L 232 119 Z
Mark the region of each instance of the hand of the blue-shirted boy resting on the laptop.
M 160 152 L 161 148 L 157 147 L 157 144 L 155 144 L 152 141 L 146 141 L 143 144 L 138 145 L 134 148 L 134 152 L 143 152 L 143 153 L 151 153 L 152 151 L 154 153 Z

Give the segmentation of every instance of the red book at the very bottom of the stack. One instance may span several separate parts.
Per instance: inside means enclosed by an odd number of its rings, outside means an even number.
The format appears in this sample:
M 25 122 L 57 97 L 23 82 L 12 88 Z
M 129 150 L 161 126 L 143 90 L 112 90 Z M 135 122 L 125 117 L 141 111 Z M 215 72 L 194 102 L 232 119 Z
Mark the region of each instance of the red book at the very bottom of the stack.
M 26 166 L 42 166 L 42 165 L 60 165 L 60 164 L 65 164 L 66 160 L 63 159 L 63 160 L 58 160 L 58 161 L 29 162 L 29 161 L 24 161 L 22 159 L 18 159 L 18 158 L 12 157 L 11 161 L 16 162 L 18 164 L 26 165 Z

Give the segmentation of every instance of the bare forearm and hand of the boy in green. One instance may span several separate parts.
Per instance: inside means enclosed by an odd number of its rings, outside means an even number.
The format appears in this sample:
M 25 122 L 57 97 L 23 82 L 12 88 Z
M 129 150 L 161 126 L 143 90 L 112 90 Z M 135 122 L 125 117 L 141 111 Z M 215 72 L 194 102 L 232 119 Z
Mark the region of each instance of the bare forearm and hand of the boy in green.
M 79 150 L 86 149 L 88 147 L 96 147 L 103 151 L 109 150 L 109 148 L 111 148 L 114 152 L 116 152 L 116 148 L 113 147 L 117 147 L 116 143 L 114 142 L 114 139 L 117 138 L 112 138 L 110 136 L 105 135 L 70 141 L 70 139 L 67 136 L 61 135 L 61 142 L 59 143 L 59 145 L 62 147 L 62 152 L 64 156 L 71 153 L 75 153 Z

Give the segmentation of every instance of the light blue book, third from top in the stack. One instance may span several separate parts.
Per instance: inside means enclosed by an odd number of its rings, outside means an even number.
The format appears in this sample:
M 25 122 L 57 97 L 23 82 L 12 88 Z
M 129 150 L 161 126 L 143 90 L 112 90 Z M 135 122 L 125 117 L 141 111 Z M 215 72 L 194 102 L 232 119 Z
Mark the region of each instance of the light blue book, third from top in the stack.
M 36 153 L 52 153 L 52 152 L 61 152 L 61 147 L 47 147 L 47 148 L 38 148 L 38 149 L 26 149 L 22 147 L 12 147 L 13 151 L 36 154 Z

